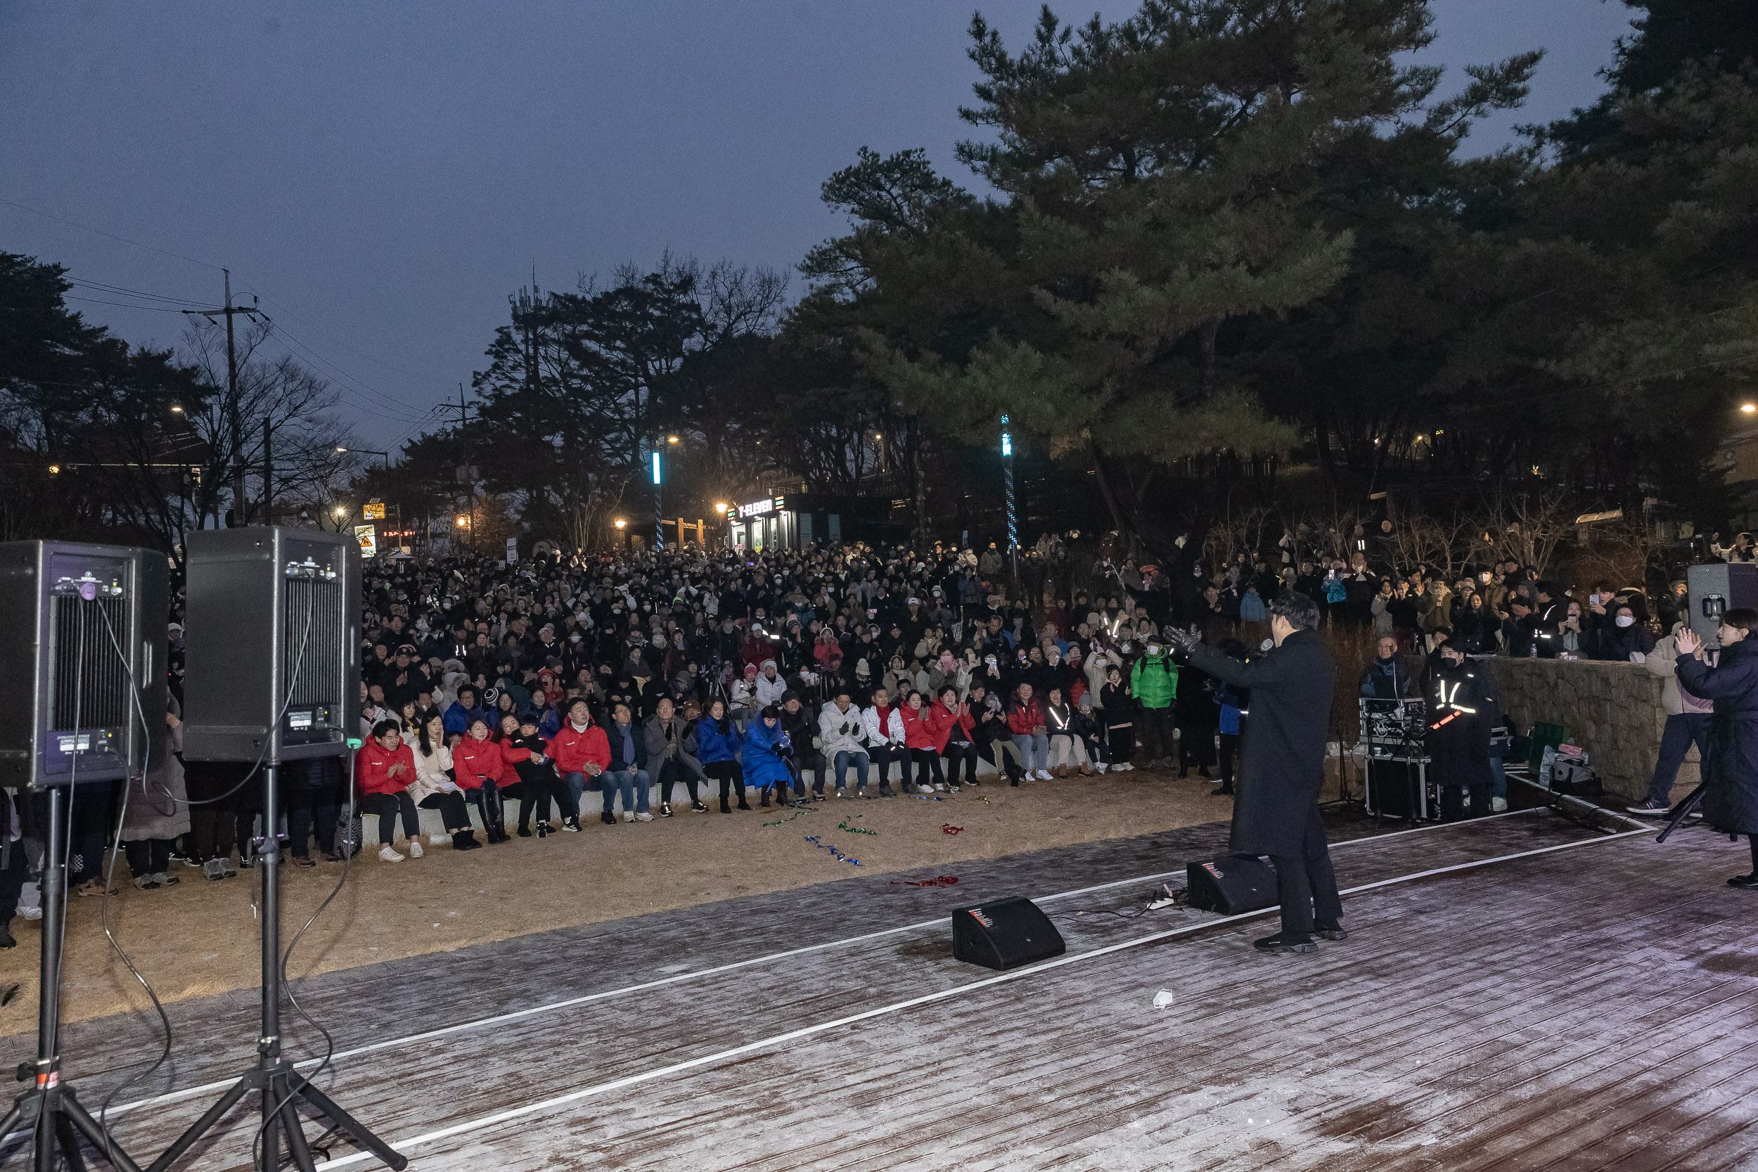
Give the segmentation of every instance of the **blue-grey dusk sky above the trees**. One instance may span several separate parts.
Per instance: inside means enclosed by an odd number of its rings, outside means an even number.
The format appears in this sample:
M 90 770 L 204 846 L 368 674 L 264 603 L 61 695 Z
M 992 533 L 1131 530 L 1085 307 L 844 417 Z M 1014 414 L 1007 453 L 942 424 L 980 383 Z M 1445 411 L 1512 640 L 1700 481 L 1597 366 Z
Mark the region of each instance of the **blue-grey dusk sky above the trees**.
M 14 0 L 0 250 L 134 290 L 74 290 L 134 343 L 183 329 L 179 302 L 137 293 L 213 304 L 229 265 L 336 380 L 360 441 L 396 446 L 455 404 L 533 265 L 545 288 L 665 248 L 789 269 L 840 228 L 817 188 L 863 144 L 925 146 L 970 183 L 953 144 L 972 7 Z M 1617 0 L 1433 7 L 1443 91 L 1459 65 L 1549 51 L 1475 151 L 1591 102 L 1630 18 Z M 1018 46 L 1037 4 L 981 11 Z

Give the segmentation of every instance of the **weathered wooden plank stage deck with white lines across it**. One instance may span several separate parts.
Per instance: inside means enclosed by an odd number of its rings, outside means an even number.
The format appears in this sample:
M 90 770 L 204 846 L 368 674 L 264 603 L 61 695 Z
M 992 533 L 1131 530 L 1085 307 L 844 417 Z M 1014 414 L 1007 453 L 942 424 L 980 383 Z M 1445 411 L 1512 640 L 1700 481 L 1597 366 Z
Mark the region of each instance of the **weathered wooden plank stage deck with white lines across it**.
M 1224 840 L 974 861 L 949 889 L 851 873 L 331 973 L 302 1003 L 343 1051 L 380 1049 L 318 1082 L 420 1172 L 1758 1168 L 1758 893 L 1725 886 L 1744 843 L 1704 829 L 1660 847 L 1524 812 L 1338 845 L 1340 884 L 1366 889 L 1315 956 L 1257 954 L 1262 917 L 1104 914 L 1139 908 L 1141 879 L 1044 903 L 1055 966 L 951 959 L 951 907 L 1174 872 Z M 125 1147 L 149 1160 L 202 1111 L 216 1089 L 179 1093 L 250 1060 L 253 1016 L 250 995 L 172 1009 L 174 1068 L 118 1102 L 171 1098 L 116 1116 Z M 70 1028 L 69 1077 L 153 1038 Z M 105 1079 L 79 1086 L 95 1109 Z M 248 1167 L 251 1126 L 179 1167 Z

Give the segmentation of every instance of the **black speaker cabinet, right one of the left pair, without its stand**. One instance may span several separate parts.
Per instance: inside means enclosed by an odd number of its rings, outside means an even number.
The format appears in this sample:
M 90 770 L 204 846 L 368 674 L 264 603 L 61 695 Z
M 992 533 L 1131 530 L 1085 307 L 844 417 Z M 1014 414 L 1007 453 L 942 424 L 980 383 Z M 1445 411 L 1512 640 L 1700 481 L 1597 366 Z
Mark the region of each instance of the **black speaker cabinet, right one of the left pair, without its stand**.
M 188 541 L 183 756 L 301 761 L 360 726 L 360 546 L 315 529 Z

